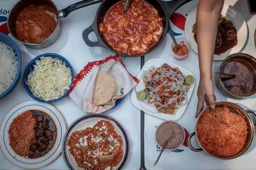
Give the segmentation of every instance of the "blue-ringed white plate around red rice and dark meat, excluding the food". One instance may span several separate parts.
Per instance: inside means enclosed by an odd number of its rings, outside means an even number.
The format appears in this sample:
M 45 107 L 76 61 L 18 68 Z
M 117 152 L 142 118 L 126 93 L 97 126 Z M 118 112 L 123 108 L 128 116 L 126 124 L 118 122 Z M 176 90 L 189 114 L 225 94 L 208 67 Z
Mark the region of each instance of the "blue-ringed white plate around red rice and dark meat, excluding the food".
M 9 145 L 8 130 L 19 114 L 27 110 L 39 110 L 48 114 L 55 123 L 57 135 L 53 147 L 45 155 L 30 159 L 16 154 Z M 48 103 L 40 103 L 35 100 L 24 101 L 13 108 L 5 115 L 0 127 L 0 146 L 5 157 L 14 165 L 25 169 L 37 169 L 44 167 L 53 162 L 61 153 L 61 144 L 66 131 L 66 124 L 61 113 L 53 105 Z

